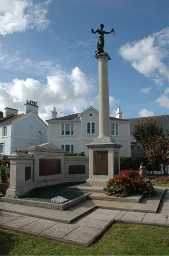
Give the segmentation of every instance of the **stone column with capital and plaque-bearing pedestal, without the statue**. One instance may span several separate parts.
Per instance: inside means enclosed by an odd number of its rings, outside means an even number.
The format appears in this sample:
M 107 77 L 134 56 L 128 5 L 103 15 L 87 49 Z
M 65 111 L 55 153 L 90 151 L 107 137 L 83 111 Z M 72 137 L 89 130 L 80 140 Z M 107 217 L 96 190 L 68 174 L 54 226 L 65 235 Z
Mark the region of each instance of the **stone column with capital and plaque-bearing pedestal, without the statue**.
M 105 186 L 109 178 L 118 174 L 120 169 L 119 148 L 110 136 L 109 84 L 107 62 L 111 60 L 107 53 L 95 56 L 99 66 L 99 136 L 89 148 L 89 186 Z

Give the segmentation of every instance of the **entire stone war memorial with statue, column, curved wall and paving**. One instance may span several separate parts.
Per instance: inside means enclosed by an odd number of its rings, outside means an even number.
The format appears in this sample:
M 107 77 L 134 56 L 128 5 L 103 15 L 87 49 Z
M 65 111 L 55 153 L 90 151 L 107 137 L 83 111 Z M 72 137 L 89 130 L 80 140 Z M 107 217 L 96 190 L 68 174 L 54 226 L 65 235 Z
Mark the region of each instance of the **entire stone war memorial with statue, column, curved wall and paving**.
M 144 194 L 114 197 L 103 188 L 120 171 L 120 144 L 110 136 L 108 61 L 104 52 L 104 25 L 98 33 L 95 58 L 98 61 L 99 136 L 87 144 L 89 158 L 64 156 L 52 143 L 29 147 L 28 154 L 13 153 L 10 187 L 0 202 L 2 228 L 34 234 L 58 241 L 90 246 L 113 223 L 147 224 L 168 227 L 168 191 L 155 188 L 156 196 Z M 115 33 L 114 33 L 115 34 Z M 79 171 L 80 170 L 80 171 Z M 76 199 L 56 197 L 51 202 L 25 200 L 33 189 L 66 182 L 84 182 L 70 186 L 70 191 L 84 191 Z M 164 197 L 163 197 L 164 196 Z M 163 201 L 163 204 L 161 204 Z

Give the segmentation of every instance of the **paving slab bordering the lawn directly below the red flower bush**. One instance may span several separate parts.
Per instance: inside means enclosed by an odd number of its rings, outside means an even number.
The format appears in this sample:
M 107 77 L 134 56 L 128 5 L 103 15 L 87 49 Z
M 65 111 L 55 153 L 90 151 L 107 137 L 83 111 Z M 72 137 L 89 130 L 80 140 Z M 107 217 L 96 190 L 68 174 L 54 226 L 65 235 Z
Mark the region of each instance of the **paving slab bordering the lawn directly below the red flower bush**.
M 119 222 L 141 223 L 146 213 L 142 212 L 126 212 L 118 219 Z

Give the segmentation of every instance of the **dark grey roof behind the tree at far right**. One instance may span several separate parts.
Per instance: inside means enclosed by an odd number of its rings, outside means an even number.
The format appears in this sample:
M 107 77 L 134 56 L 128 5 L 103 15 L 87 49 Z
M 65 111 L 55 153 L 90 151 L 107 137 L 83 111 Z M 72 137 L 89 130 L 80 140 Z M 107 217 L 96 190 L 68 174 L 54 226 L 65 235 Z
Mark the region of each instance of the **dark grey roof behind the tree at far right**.
M 169 130 L 169 115 L 158 115 L 158 116 L 146 116 L 146 117 L 136 117 L 136 118 L 128 118 L 126 120 L 132 121 L 130 124 L 130 132 L 132 134 L 134 125 L 139 122 L 145 122 L 147 120 L 153 119 L 156 122 L 162 122 L 163 131 Z

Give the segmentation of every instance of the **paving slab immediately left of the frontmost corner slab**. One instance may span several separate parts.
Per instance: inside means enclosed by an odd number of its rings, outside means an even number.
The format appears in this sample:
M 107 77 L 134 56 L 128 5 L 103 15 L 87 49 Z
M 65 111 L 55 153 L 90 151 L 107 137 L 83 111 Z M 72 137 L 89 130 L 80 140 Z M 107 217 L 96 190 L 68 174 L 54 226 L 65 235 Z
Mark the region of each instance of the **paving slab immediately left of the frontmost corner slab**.
M 52 237 L 62 238 L 78 227 L 79 227 L 78 225 L 74 225 L 74 224 L 58 223 L 58 224 L 40 232 L 40 234 L 46 235 L 51 238 Z

